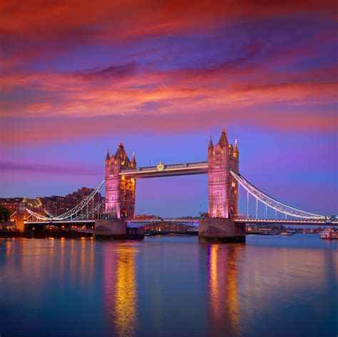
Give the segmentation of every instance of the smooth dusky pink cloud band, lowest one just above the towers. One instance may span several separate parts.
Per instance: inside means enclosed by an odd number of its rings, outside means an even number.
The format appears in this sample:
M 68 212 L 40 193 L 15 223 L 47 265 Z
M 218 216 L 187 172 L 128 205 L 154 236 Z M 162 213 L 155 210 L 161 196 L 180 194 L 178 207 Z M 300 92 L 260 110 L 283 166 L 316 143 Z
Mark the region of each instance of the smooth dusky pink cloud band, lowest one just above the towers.
M 189 103 L 187 103 L 189 105 Z M 175 107 L 171 107 L 173 110 Z M 125 135 L 126 133 L 184 133 L 188 131 L 217 128 L 219 125 L 252 125 L 274 132 L 337 132 L 337 113 L 317 110 L 306 114 L 279 107 L 271 113 L 270 107 L 254 110 L 249 108 L 208 109 L 199 113 L 171 113 L 163 115 L 104 115 L 96 117 L 53 118 L 6 118 L 1 123 L 1 146 L 22 147 L 24 144 L 58 142 L 95 138 L 97 135 Z

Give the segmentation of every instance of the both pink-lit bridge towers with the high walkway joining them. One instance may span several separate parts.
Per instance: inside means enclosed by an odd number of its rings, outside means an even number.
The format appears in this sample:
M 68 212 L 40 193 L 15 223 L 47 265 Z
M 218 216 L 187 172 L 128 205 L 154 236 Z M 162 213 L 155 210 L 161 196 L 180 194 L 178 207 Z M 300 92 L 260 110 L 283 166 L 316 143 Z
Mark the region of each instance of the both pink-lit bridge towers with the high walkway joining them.
M 121 142 L 115 155 L 106 155 L 106 213 L 115 214 L 117 219 L 134 217 L 135 188 L 139 178 L 170 177 L 177 175 L 208 174 L 208 212 L 210 217 L 229 218 L 237 214 L 238 184 L 230 172 L 239 173 L 240 152 L 229 144 L 225 130 L 214 146 L 208 145 L 208 161 L 187 162 L 156 166 L 137 167 L 135 153 L 132 160 Z

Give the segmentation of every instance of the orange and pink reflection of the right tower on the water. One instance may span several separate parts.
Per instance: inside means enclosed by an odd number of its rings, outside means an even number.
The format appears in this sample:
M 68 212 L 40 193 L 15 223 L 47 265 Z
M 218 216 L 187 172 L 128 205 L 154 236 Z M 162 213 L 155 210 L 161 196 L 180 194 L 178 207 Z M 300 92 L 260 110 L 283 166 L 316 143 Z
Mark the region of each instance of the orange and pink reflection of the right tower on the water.
M 237 251 L 241 245 L 211 244 L 208 247 L 210 320 L 217 336 L 240 334 L 240 313 L 237 285 Z

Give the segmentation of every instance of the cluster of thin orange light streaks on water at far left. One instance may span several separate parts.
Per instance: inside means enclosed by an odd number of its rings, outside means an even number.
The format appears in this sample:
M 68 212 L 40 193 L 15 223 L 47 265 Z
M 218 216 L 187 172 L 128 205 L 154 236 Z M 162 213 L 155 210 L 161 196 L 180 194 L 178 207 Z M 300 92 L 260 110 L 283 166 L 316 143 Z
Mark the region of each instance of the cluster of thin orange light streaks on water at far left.
M 20 264 L 20 276 L 39 289 L 42 279 L 58 279 L 76 286 L 90 286 L 93 281 L 95 254 L 92 240 L 16 239 L 4 242 L 4 270 L 14 273 Z M 70 277 L 69 277 L 70 276 Z M 18 280 L 19 281 L 19 280 Z

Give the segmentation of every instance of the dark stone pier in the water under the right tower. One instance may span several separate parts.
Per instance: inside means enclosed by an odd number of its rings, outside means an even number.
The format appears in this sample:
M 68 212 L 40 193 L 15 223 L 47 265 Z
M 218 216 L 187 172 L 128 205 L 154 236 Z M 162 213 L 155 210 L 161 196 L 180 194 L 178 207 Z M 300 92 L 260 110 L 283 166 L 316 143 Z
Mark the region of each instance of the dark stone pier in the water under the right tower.
M 245 242 L 245 224 L 233 219 L 202 218 L 198 230 L 200 242 Z

